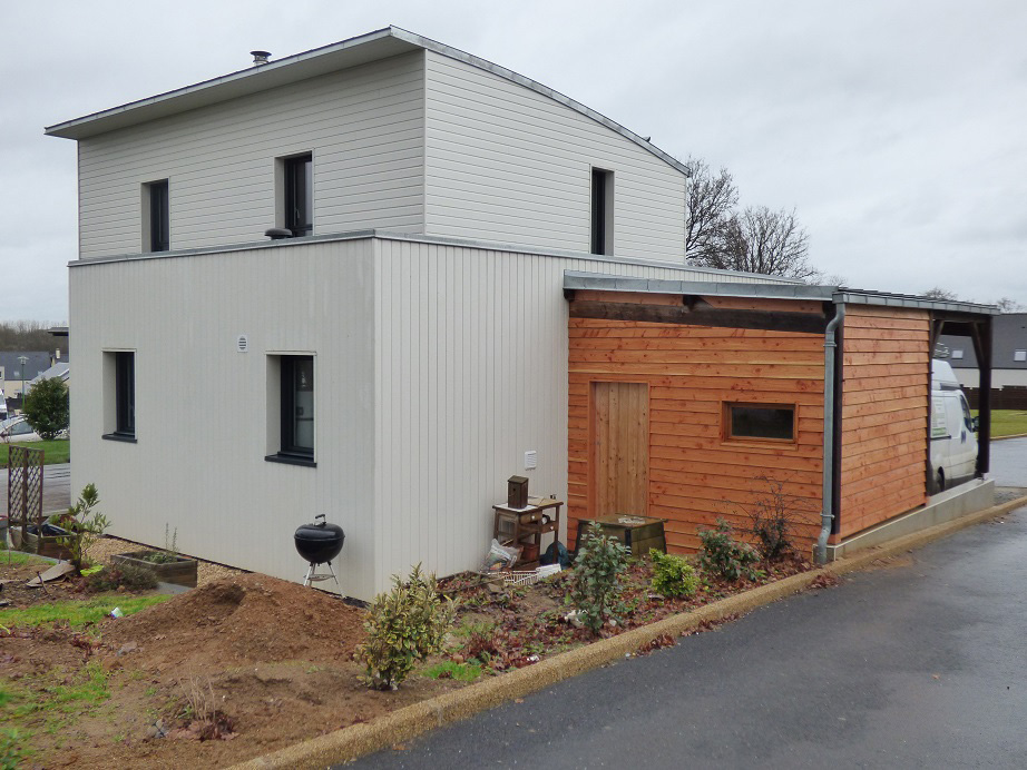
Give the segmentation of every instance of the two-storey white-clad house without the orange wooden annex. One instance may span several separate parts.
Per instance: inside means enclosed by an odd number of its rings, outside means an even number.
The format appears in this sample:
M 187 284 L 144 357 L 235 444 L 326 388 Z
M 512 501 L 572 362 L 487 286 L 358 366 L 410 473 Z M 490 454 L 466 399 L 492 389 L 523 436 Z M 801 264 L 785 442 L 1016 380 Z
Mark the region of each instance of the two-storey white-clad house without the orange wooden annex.
M 78 142 L 72 486 L 293 580 L 324 513 L 362 599 L 476 566 L 512 474 L 567 500 L 565 272 L 794 286 L 688 267 L 647 140 L 398 28 L 47 134 Z

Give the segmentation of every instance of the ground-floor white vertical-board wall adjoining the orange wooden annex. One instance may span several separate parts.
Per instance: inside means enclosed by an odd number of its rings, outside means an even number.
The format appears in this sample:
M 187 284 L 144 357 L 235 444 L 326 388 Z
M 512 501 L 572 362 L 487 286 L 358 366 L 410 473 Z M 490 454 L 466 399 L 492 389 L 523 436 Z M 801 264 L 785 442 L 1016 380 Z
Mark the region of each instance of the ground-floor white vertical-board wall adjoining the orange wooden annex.
M 418 562 L 477 567 L 514 474 L 567 500 L 565 269 L 759 280 L 388 239 L 375 263 L 379 589 Z M 537 470 L 525 471 L 528 450 Z

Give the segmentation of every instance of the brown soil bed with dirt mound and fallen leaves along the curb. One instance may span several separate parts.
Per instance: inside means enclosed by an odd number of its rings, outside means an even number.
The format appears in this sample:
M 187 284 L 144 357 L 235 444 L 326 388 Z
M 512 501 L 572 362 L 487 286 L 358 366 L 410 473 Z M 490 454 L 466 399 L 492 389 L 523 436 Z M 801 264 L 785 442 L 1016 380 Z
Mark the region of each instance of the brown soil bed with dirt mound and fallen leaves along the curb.
M 761 569 L 766 578 L 759 583 L 810 566 L 789 560 Z M 444 579 L 443 592 L 460 603 L 458 625 L 429 667 L 500 674 L 594 641 L 564 619 L 568 578 L 527 588 L 473 573 Z M 667 600 L 651 580 L 647 561 L 630 566 L 627 611 L 604 635 L 759 584 L 706 576 L 695 596 Z M 48 588 L 62 599 L 80 595 Z M 365 636 L 362 620 L 362 610 L 333 595 L 266 575 L 231 575 L 84 631 L 0 630 L 0 688 L 16 693 L 8 709 L 28 702 L 27 693 L 46 693 L 50 703 L 14 724 L 32 733 L 32 764 L 179 768 L 233 764 L 466 685 L 422 669 L 395 692 L 368 689 L 353 660 Z M 640 652 L 675 642 L 661 638 Z M 109 697 L 61 711 L 60 693 L 98 671 Z

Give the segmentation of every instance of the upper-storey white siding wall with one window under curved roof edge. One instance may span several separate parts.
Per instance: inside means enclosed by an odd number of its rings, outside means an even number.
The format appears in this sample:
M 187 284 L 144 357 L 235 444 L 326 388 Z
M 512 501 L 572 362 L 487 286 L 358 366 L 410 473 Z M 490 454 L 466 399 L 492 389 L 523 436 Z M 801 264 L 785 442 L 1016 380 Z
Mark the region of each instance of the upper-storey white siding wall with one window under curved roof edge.
M 426 57 L 428 234 L 587 253 L 595 166 L 614 171 L 614 254 L 684 261 L 684 175 L 548 97 Z

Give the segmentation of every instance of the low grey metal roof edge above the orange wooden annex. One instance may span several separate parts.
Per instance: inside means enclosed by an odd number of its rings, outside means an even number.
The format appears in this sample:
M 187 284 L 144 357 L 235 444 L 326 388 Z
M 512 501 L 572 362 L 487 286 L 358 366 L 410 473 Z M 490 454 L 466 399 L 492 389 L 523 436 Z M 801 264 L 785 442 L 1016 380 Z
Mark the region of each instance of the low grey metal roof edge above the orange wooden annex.
M 771 277 L 771 276 L 766 276 Z M 845 286 L 810 286 L 808 284 L 737 284 L 730 282 L 654 280 L 601 273 L 564 272 L 565 289 L 593 289 L 597 292 L 638 292 L 648 294 L 692 294 L 753 299 L 812 299 L 840 305 L 881 305 L 972 315 L 999 315 L 995 305 L 930 299 L 911 294 L 891 294 L 853 289 Z

